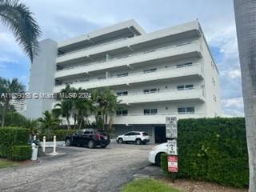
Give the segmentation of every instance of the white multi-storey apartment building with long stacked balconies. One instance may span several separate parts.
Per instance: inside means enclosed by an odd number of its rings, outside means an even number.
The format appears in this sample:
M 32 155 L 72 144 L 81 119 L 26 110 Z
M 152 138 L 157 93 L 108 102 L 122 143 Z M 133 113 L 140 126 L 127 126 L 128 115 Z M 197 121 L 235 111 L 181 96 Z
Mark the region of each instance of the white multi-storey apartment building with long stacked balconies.
M 30 93 L 57 93 L 67 84 L 109 86 L 122 100 L 116 134 L 145 130 L 163 142 L 166 117 L 221 115 L 218 69 L 198 21 L 146 33 L 134 20 L 64 42 L 46 39 L 30 70 Z M 38 118 L 52 100 L 31 99 L 26 116 Z

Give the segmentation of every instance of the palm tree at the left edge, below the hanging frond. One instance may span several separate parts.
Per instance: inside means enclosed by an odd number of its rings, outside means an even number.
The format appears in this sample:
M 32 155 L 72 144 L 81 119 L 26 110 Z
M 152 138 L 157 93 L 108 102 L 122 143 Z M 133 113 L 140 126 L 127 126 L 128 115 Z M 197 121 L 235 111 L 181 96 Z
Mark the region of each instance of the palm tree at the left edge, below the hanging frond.
M 0 94 L 1 94 L 1 102 L 2 106 L 2 121 L 1 126 L 5 125 L 6 114 L 10 109 L 10 100 L 11 99 L 20 99 L 15 98 L 15 95 L 18 93 L 25 92 L 25 86 L 22 82 L 18 82 L 18 78 L 13 78 L 11 81 L 5 78 L 0 78 Z

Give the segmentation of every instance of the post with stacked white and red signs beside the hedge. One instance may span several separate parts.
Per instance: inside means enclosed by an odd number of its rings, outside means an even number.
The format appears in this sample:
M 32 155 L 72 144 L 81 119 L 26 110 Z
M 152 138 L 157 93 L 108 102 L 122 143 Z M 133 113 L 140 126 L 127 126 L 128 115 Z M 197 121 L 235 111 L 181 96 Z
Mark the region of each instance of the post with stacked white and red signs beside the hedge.
M 166 117 L 166 138 L 168 152 L 168 171 L 171 173 L 172 182 L 174 182 L 175 173 L 178 172 L 178 130 L 177 118 Z

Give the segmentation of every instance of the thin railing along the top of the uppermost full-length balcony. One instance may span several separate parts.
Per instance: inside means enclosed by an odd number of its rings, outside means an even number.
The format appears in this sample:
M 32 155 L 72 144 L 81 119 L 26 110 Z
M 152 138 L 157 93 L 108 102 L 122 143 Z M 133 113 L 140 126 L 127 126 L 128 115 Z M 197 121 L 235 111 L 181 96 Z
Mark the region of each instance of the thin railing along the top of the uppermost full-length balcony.
M 115 57 L 115 58 L 108 58 L 104 61 L 90 62 L 90 63 L 86 63 L 86 64 L 82 64 L 82 65 L 70 66 L 70 67 L 63 68 L 62 70 L 70 70 L 70 69 L 74 69 L 74 68 L 77 68 L 77 67 L 80 67 L 80 66 L 90 66 L 90 65 L 94 65 L 96 63 L 102 63 L 102 62 L 111 62 L 111 61 L 119 60 L 119 59 L 122 59 L 122 58 L 130 58 L 130 57 L 134 57 L 134 56 L 138 56 L 138 55 L 142 55 L 142 54 L 148 54 L 148 53 L 158 51 L 158 50 L 173 49 L 174 47 L 179 47 L 179 46 L 187 46 L 187 45 L 190 45 L 190 44 L 193 44 L 193 43 L 199 43 L 199 42 L 198 41 L 193 41 L 193 42 L 186 42 L 186 43 L 181 43 L 181 44 L 172 45 L 172 46 L 162 46 L 162 47 L 159 47 L 159 48 L 156 48 L 156 49 L 146 50 L 146 51 L 142 51 L 142 52 L 139 52 L 139 53 L 136 53 L 136 54 L 127 54 L 125 56 L 120 56 L 120 57 Z M 58 70 L 58 71 L 60 71 L 60 70 Z

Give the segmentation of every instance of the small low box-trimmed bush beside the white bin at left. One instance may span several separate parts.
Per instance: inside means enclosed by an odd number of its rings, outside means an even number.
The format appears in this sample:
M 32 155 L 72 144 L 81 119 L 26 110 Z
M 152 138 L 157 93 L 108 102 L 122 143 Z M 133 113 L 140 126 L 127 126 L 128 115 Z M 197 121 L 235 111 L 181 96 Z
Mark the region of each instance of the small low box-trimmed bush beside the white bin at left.
M 31 158 L 32 148 L 31 146 L 12 146 L 10 159 L 16 161 L 22 161 Z

